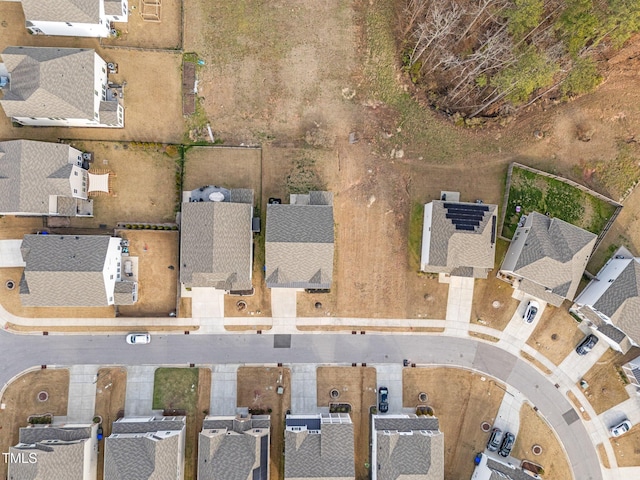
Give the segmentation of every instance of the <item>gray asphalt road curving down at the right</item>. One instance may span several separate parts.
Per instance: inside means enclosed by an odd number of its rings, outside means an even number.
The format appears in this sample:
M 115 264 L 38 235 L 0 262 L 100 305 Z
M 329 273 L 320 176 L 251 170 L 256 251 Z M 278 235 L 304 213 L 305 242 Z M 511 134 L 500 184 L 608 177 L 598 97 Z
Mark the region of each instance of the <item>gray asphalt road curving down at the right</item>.
M 287 348 L 274 348 L 276 343 Z M 518 389 L 562 441 L 574 477 L 601 480 L 590 437 L 566 399 L 543 375 L 512 354 L 471 338 L 427 335 L 154 335 L 127 345 L 124 335 L 12 335 L 0 332 L 0 385 L 37 365 L 188 365 L 220 363 L 400 363 L 472 368 Z M 565 415 L 563 417 L 563 415 Z

